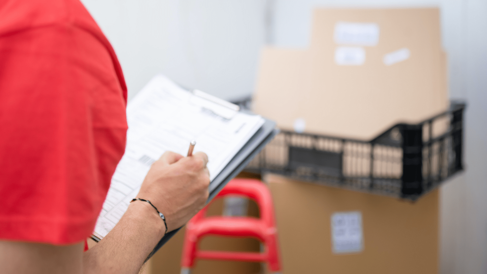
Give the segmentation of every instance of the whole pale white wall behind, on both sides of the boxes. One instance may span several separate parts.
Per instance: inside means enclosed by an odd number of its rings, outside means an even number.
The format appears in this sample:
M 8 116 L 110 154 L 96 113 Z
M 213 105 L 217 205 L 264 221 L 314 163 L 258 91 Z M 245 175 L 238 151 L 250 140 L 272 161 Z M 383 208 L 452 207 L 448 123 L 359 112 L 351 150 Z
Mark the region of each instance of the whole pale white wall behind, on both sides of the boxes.
M 158 72 L 225 99 L 248 96 L 264 41 L 307 47 L 313 7 L 440 7 L 450 96 L 468 102 L 466 172 L 442 188 L 440 268 L 487 273 L 487 0 L 83 2 L 117 52 L 130 98 Z

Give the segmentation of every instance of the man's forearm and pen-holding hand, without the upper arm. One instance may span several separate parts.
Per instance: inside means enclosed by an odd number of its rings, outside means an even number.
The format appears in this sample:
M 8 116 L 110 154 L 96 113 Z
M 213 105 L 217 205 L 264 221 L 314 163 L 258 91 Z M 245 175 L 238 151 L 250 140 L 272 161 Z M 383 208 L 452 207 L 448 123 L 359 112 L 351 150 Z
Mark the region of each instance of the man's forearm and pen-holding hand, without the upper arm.
M 138 198 L 150 200 L 166 216 L 168 231 L 183 226 L 208 198 L 208 158 L 166 152 L 152 164 Z M 84 273 L 138 273 L 164 235 L 164 223 L 149 203 L 135 201 L 118 224 L 84 253 Z

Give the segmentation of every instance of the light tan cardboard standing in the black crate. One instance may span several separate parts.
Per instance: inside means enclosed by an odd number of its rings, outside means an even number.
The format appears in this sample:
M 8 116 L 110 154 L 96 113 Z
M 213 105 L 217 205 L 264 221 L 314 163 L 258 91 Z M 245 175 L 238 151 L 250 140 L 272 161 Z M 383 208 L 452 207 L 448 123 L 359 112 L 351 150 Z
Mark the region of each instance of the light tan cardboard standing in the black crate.
M 376 23 L 380 36 L 358 66 L 337 65 L 338 21 Z M 293 129 L 372 139 L 397 122 L 419 122 L 448 108 L 446 59 L 440 45 L 438 10 L 318 9 L 308 50 L 266 48 L 254 111 Z M 384 55 L 401 48 L 409 59 L 386 66 Z

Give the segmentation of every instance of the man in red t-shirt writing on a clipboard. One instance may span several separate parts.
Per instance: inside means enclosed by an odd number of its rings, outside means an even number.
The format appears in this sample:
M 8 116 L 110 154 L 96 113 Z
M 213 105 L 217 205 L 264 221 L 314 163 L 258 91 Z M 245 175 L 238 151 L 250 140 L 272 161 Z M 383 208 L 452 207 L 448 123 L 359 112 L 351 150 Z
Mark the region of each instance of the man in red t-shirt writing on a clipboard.
M 127 89 L 79 0 L 0 0 L 0 273 L 137 273 L 208 196 L 203 153 L 167 152 L 83 253 L 125 149 Z M 135 197 L 134 197 L 135 198 Z

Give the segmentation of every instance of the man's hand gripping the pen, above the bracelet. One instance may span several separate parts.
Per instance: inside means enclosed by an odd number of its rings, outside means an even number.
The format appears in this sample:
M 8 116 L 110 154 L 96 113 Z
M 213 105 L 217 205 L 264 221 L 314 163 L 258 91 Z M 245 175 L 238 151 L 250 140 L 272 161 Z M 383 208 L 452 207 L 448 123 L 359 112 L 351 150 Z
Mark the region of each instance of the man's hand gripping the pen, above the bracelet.
M 205 205 L 210 182 L 207 162 L 202 152 L 190 157 L 166 152 L 152 164 L 137 197 L 150 200 L 164 214 L 168 232 L 183 226 Z

